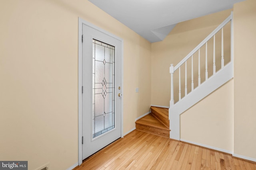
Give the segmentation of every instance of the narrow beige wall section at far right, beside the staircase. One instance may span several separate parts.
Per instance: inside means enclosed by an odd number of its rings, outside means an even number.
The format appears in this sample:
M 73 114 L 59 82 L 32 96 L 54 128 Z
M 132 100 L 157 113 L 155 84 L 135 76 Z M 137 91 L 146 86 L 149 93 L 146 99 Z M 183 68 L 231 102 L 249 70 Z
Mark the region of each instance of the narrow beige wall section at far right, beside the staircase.
M 256 1 L 234 5 L 234 153 L 256 159 Z

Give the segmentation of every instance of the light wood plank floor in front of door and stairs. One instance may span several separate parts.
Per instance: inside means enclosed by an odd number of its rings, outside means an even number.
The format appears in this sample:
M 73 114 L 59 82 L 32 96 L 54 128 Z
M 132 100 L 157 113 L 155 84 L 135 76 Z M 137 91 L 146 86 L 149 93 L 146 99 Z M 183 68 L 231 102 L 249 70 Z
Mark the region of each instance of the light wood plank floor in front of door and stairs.
M 256 170 L 229 154 L 134 130 L 87 158 L 75 170 Z

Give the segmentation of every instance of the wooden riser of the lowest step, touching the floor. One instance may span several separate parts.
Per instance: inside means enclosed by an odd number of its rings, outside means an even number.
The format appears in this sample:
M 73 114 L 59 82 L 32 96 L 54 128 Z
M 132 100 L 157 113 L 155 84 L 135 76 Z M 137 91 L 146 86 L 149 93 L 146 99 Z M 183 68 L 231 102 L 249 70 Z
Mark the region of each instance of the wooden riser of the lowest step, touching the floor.
M 162 136 L 162 137 L 170 137 L 170 131 L 164 129 L 158 129 L 155 127 L 140 125 L 136 123 L 136 129 L 139 131 L 144 131 L 146 133 L 152 133 L 154 135 Z

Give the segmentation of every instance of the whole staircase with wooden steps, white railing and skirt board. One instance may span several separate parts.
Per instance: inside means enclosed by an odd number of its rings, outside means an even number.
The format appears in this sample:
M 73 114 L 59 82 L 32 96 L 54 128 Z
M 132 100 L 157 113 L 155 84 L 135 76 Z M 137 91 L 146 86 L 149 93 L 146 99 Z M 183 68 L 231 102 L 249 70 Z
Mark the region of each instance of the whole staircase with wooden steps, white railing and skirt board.
M 230 33 L 230 40 L 225 41 L 228 44 L 226 48 L 224 46 L 225 25 L 230 26 L 229 31 L 226 30 Z M 221 44 L 221 48 L 216 47 L 218 44 Z M 171 64 L 170 108 L 151 107 L 149 115 L 136 121 L 136 129 L 180 140 L 180 114 L 232 79 L 234 77 L 233 63 L 233 15 L 231 13 L 176 66 Z M 174 80 L 176 85 L 174 85 Z M 188 83 L 190 80 L 191 84 Z

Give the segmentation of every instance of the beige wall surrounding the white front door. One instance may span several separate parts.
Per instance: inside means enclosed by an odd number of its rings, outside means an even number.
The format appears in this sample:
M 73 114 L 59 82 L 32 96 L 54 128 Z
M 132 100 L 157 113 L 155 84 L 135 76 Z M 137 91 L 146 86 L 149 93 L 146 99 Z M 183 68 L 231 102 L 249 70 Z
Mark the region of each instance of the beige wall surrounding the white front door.
M 148 41 L 87 0 L 3 0 L 0 160 L 28 160 L 29 170 L 78 162 L 78 17 L 124 40 L 124 133 L 148 112 Z

